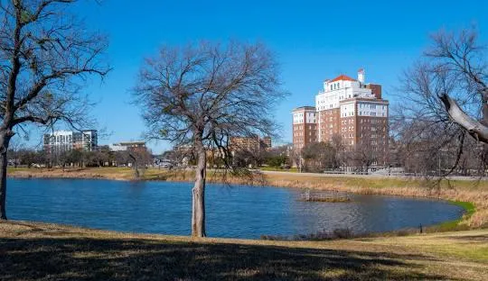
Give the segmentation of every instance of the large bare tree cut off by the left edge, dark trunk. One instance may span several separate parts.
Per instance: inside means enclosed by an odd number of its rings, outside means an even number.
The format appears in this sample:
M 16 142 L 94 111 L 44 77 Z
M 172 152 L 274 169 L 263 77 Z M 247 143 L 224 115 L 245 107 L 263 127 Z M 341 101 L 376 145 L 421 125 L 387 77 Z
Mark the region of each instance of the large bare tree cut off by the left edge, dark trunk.
M 0 218 L 6 219 L 6 152 L 28 123 L 86 121 L 80 86 L 103 77 L 105 38 L 87 32 L 67 12 L 75 0 L 0 1 Z

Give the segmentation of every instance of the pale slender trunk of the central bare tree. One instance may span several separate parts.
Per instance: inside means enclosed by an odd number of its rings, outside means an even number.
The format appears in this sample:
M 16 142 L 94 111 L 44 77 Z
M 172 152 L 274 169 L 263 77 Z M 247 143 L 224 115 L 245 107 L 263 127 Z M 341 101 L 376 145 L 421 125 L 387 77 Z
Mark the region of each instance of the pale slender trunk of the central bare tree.
M 192 236 L 205 237 L 205 180 L 207 155 L 202 141 L 197 141 L 198 164 L 196 168 L 195 186 L 192 188 Z

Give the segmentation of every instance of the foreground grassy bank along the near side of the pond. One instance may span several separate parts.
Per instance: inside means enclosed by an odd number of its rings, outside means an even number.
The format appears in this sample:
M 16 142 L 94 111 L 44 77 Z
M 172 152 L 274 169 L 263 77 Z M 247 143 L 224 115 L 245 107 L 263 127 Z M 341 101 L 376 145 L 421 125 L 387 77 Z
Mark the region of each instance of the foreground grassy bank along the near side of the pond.
M 326 242 L 0 222 L 0 280 L 485 280 L 488 231 Z

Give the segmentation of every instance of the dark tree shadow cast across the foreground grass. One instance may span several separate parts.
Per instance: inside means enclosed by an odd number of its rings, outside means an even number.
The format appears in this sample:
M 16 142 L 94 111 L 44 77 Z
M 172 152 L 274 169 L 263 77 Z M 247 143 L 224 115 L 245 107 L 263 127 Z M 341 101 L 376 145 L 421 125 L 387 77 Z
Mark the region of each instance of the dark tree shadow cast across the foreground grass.
M 163 240 L 0 239 L 0 280 L 438 280 L 403 259 L 333 249 Z

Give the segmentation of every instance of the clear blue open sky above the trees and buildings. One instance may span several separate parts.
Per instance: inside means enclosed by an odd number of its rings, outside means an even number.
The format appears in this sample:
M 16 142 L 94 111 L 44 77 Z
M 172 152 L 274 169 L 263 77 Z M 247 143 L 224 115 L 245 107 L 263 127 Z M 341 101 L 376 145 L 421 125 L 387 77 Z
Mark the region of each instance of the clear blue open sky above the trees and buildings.
M 87 91 L 98 104 L 93 113 L 112 131 L 100 143 L 138 140 L 145 130 L 131 100 L 143 59 L 162 44 L 211 40 L 262 41 L 277 54 L 288 96 L 278 107 L 283 140 L 291 141 L 291 110 L 314 105 L 325 78 L 356 77 L 383 85 L 391 99 L 399 76 L 441 28 L 475 25 L 488 42 L 488 1 L 156 1 L 105 0 L 76 7 L 89 28 L 108 34 L 114 70 Z M 398 102 L 395 100 L 392 103 Z M 150 145 L 155 152 L 168 143 Z

